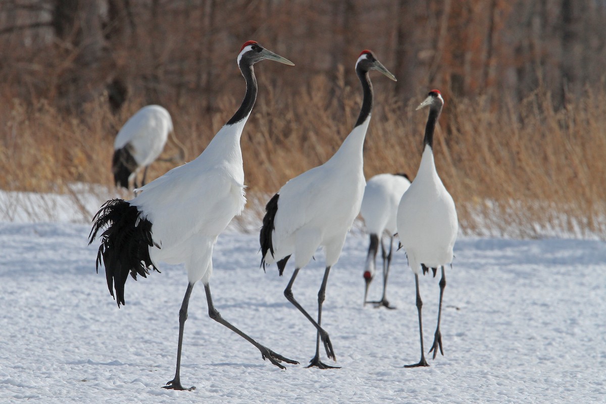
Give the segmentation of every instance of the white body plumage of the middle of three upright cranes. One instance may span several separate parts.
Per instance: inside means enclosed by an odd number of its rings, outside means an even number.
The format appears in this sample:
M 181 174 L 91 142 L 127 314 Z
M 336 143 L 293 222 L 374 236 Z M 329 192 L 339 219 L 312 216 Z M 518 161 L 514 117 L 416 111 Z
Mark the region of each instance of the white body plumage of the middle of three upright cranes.
M 318 247 L 324 247 L 326 266 L 339 259 L 347 232 L 353 224 L 364 195 L 362 147 L 370 115 L 347 136 L 339 150 L 324 164 L 291 179 L 279 191 L 273 257 L 294 254 L 296 268 L 302 268 Z

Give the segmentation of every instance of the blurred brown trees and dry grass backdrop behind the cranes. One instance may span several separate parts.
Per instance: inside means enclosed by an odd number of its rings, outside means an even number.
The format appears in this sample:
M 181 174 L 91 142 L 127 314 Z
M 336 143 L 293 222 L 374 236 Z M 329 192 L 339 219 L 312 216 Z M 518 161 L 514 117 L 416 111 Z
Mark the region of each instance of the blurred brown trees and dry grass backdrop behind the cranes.
M 0 188 L 112 187 L 115 134 L 147 104 L 195 158 L 244 96 L 236 56 L 255 39 L 296 64 L 255 67 L 242 136 L 249 195 L 273 193 L 353 127 L 368 48 L 398 82 L 371 75 L 367 177 L 414 177 L 414 107 L 438 88 L 436 164 L 464 230 L 603 238 L 604 21 L 603 0 L 0 0 Z

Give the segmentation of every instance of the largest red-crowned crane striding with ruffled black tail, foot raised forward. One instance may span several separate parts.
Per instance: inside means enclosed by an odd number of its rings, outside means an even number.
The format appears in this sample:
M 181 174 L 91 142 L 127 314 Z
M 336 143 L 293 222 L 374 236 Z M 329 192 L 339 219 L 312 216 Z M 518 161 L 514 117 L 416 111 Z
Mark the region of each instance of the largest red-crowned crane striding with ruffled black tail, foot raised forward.
M 217 237 L 241 213 L 246 202 L 240 137 L 257 96 L 253 64 L 263 59 L 293 65 L 255 41 L 245 42 L 238 55 L 238 66 L 246 81 L 244 101 L 204 152 L 142 187 L 134 199 L 109 200 L 93 219 L 90 242 L 105 229 L 96 265 L 98 268 L 103 260 L 107 286 L 112 296 L 115 290 L 118 306 L 124 304 L 124 282 L 129 273 L 136 279 L 137 274 L 145 277 L 150 267 L 157 270 L 160 261 L 185 263 L 188 285 L 179 310 L 175 378 L 164 388 L 184 389 L 180 377 L 183 330 L 191 290 L 199 280 L 204 283 L 211 319 L 255 345 L 263 359 L 273 365 L 284 368 L 282 361 L 298 363 L 276 354 L 224 320 L 213 306 L 208 285 Z

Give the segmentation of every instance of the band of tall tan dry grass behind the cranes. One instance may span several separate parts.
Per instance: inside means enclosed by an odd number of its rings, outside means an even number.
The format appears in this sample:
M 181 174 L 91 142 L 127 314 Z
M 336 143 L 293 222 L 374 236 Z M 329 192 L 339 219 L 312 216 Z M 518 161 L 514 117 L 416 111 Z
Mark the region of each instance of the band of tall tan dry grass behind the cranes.
M 361 102 L 359 88 L 338 82 L 318 76 L 288 93 L 260 81 L 241 141 L 249 196 L 264 199 L 336 151 Z M 403 171 L 414 177 L 427 111 L 382 96 L 384 85 L 375 80 L 365 173 Z M 542 91 L 498 107 L 484 98 L 446 99 L 435 139 L 436 164 L 467 233 L 483 234 L 490 227 L 491 234 L 538 237 L 551 228 L 606 236 L 606 89 L 594 87 L 565 110 L 554 110 L 549 99 Z M 0 188 L 65 193 L 66 184 L 76 181 L 111 187 L 113 137 L 142 106 L 131 100 L 113 116 L 98 100 L 79 116 L 65 116 L 44 101 L 2 101 Z M 165 105 L 188 159 L 204 149 L 239 101 L 219 99 L 211 113 L 201 113 L 196 103 Z M 156 163 L 151 176 L 170 168 Z

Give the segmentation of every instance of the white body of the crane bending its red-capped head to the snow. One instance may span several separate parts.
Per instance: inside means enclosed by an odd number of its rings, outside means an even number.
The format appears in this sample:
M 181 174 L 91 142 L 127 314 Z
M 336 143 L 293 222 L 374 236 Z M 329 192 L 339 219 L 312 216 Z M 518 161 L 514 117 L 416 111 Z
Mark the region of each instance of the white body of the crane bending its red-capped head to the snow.
M 384 232 L 389 236 L 398 232 L 398 205 L 408 187 L 410 181 L 401 175 L 377 174 L 368 180 L 360 208 L 367 233 L 380 238 Z

